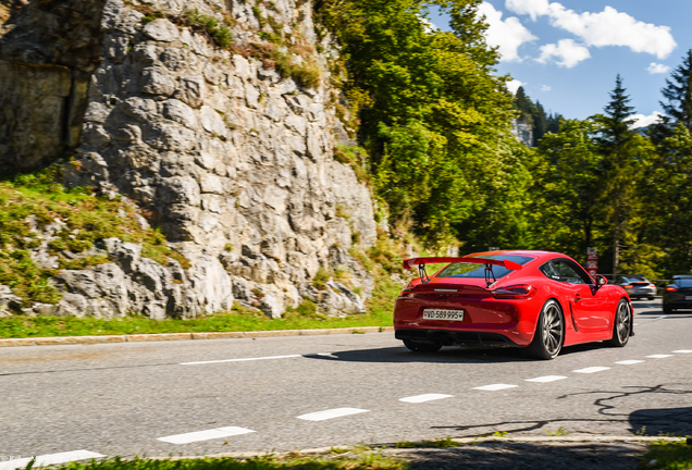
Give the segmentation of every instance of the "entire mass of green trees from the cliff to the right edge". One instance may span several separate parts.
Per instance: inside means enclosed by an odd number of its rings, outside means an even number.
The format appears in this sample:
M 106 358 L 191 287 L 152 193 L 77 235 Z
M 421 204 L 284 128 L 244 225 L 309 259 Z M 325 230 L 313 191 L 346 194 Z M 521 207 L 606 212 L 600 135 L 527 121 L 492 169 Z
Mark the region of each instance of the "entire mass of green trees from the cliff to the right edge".
M 551 249 L 601 272 L 692 272 L 692 51 L 662 90 L 664 122 L 633 127 L 621 77 L 601 114 L 546 113 L 512 97 L 485 41 L 481 0 L 318 0 L 342 46 L 343 115 L 390 221 L 462 251 Z M 427 21 L 448 14 L 450 33 Z M 532 125 L 534 147 L 510 135 Z

